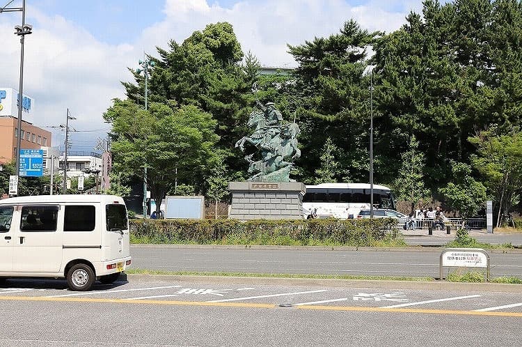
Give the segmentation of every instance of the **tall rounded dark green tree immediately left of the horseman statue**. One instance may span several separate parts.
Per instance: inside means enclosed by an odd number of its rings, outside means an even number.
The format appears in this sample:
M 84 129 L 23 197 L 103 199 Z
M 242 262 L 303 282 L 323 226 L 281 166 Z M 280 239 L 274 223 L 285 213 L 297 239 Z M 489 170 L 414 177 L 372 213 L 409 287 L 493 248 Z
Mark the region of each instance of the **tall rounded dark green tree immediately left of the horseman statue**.
M 241 153 L 234 151 L 234 144 L 248 132 L 246 118 L 258 61 L 250 54 L 242 63 L 241 45 L 226 22 L 208 24 L 182 44 L 171 40 L 167 49 L 157 50 L 159 58 L 151 57 L 155 66 L 148 81 L 150 100 L 175 100 L 180 107 L 193 105 L 212 114 L 219 135 L 216 146 L 227 151 L 226 164 L 232 170 L 242 170 Z M 144 77 L 130 70 L 137 84 L 123 85 L 127 97 L 138 102 L 144 95 Z

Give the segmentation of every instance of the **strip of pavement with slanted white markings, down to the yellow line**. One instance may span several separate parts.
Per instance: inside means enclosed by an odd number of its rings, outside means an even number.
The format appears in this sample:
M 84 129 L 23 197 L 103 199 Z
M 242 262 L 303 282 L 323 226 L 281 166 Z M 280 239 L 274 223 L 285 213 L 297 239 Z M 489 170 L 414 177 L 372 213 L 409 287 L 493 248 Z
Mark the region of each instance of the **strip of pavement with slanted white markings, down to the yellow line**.
M 515 287 L 512 287 L 515 288 Z M 107 302 L 193 306 L 402 311 L 522 317 L 520 293 L 404 288 L 272 286 L 215 282 L 115 282 L 74 292 L 61 280 L 10 279 L 0 301 Z

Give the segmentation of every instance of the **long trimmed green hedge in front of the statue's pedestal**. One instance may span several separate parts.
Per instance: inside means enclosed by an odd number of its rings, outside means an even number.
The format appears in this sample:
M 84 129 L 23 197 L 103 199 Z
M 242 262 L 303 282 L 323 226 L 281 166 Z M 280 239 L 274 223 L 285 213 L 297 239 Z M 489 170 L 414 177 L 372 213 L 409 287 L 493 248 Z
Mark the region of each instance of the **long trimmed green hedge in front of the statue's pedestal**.
M 154 244 L 372 246 L 397 222 L 381 219 L 132 219 L 131 241 Z

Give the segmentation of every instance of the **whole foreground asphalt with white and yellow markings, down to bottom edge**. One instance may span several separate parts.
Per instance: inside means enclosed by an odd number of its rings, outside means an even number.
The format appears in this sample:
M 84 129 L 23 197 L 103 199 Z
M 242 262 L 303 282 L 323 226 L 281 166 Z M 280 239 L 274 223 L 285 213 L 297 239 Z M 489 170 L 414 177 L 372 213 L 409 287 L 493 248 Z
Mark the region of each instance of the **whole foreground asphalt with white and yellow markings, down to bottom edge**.
M 519 346 L 520 293 L 63 280 L 0 287 L 2 346 Z

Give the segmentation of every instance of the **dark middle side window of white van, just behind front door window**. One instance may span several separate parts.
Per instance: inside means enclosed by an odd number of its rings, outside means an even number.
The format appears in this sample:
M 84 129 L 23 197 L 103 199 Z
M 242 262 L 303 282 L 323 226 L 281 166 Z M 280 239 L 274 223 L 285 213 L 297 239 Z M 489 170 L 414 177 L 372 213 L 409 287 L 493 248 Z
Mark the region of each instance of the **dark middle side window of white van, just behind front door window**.
M 58 206 L 23 206 L 22 231 L 56 231 Z

